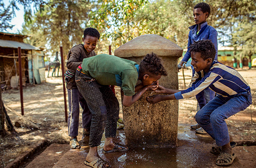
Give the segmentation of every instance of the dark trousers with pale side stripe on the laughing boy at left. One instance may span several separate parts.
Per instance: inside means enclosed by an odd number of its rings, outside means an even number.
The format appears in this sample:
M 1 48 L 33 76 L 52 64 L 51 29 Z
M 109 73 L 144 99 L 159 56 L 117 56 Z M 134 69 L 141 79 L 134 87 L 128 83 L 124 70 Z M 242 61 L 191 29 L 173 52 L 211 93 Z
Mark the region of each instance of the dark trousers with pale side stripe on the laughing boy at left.
M 79 92 L 78 89 L 68 89 L 69 100 L 69 116 L 68 116 L 68 135 L 78 135 L 79 125 L 79 104 L 83 108 L 82 112 L 82 126 L 83 128 L 90 130 L 92 113 L 90 112 L 87 103 Z

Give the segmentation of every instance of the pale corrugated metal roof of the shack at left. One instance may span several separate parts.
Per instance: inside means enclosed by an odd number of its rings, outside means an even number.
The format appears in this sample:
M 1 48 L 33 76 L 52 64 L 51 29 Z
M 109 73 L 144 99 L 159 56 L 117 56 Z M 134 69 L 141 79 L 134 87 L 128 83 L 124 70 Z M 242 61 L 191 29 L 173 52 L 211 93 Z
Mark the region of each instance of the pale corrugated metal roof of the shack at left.
M 18 47 L 20 47 L 21 49 L 40 50 L 39 48 L 32 46 L 30 44 L 21 43 L 18 41 L 11 41 L 11 40 L 1 40 L 1 39 L 0 39 L 0 47 L 3 47 L 3 48 L 18 48 Z

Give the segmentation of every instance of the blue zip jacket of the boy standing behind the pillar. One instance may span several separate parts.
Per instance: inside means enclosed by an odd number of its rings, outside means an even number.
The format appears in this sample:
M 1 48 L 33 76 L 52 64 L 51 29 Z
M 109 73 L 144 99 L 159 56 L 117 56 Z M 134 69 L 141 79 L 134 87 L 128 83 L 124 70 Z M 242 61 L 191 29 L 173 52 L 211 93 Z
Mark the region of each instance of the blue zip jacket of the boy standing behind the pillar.
M 199 31 L 198 35 L 196 35 L 196 31 L 197 31 L 197 24 L 190 26 L 189 29 L 189 35 L 188 35 L 188 47 L 187 47 L 187 52 L 185 53 L 184 57 L 183 57 L 183 61 L 187 62 L 190 57 L 191 54 L 189 52 L 190 50 L 190 45 L 194 43 L 195 41 L 199 41 L 199 40 L 211 40 L 215 46 L 216 49 L 216 54 L 215 54 L 215 58 L 214 60 L 217 61 L 218 59 L 218 40 L 217 40 L 217 36 L 218 33 L 215 30 L 215 28 L 213 28 L 212 26 L 208 25 L 207 22 L 201 24 L 201 30 Z

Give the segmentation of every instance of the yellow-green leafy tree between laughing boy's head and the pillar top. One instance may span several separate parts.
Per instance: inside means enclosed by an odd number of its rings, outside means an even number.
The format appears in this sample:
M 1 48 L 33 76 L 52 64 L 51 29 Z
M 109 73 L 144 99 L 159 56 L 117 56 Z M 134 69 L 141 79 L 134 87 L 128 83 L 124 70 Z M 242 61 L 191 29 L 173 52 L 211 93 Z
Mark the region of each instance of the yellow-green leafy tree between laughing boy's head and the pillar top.
M 111 44 L 115 49 L 133 39 L 138 30 L 134 17 L 146 3 L 147 0 L 98 0 L 96 10 L 89 13 L 88 24 L 101 33 L 98 48 L 106 53 L 106 45 Z

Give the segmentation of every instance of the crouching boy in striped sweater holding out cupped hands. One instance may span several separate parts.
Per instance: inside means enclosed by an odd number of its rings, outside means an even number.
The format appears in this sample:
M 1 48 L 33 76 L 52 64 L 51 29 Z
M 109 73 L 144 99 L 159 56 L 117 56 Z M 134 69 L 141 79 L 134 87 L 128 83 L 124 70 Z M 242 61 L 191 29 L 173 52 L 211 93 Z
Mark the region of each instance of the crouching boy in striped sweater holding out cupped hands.
M 180 91 L 158 85 L 155 92 L 168 95 L 150 96 L 147 101 L 157 103 L 189 98 L 207 87 L 215 91 L 217 96 L 196 113 L 195 120 L 219 146 L 220 154 L 216 164 L 230 165 L 236 156 L 232 153 L 232 137 L 229 135 L 225 119 L 252 104 L 250 86 L 236 70 L 214 60 L 216 51 L 211 40 L 195 42 L 191 45 L 190 52 L 191 65 L 195 69 L 190 87 Z

